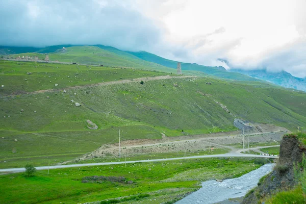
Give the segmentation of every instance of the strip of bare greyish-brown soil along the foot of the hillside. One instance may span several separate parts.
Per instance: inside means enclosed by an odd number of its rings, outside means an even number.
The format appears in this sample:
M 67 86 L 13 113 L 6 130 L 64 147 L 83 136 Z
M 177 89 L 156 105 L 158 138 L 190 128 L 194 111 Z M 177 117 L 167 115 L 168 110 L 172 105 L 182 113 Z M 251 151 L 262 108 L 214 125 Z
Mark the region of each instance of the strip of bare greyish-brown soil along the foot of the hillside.
M 262 133 L 257 128 L 250 128 L 249 142 L 270 142 L 280 141 L 284 132 L 289 132 L 283 127 L 271 124 L 248 123 L 251 127 L 260 126 Z M 246 136 L 246 135 L 245 135 Z M 245 138 L 246 139 L 246 138 Z M 168 153 L 168 152 L 199 152 L 209 148 L 228 148 L 231 151 L 237 149 L 228 146 L 243 142 L 241 131 L 227 133 L 212 133 L 203 135 L 189 135 L 178 137 L 166 137 L 162 134 L 162 139 L 136 139 L 121 142 L 121 155 L 132 156 L 140 154 Z M 103 145 L 95 151 L 86 154 L 78 160 L 86 160 L 100 157 L 119 156 L 119 144 Z

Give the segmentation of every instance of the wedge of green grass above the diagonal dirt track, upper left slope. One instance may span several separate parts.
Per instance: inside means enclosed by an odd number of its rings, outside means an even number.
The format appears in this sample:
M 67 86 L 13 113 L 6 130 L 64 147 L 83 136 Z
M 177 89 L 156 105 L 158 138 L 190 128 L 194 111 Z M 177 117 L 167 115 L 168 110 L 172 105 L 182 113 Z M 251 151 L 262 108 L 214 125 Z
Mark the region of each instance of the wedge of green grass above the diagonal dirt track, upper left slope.
M 29 75 L 28 72 L 32 74 Z M 63 90 L 66 87 L 167 74 L 124 68 L 0 60 L 1 85 L 4 85 L 0 94 L 22 94 L 45 89 Z

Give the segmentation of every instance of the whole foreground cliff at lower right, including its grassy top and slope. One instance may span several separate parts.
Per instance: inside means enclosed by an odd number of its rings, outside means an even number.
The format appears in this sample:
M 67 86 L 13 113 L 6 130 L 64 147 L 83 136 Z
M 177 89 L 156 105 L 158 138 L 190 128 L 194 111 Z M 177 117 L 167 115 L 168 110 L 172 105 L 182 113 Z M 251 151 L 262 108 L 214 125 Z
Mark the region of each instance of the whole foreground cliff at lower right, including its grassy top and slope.
M 284 135 L 274 170 L 250 190 L 242 203 L 305 203 L 306 133 Z

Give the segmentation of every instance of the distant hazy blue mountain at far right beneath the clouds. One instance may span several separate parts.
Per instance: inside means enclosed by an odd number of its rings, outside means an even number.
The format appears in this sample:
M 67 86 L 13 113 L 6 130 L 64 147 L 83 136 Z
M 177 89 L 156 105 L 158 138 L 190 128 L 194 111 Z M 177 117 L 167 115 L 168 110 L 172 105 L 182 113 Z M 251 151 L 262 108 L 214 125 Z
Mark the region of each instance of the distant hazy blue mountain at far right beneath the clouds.
M 306 91 L 306 78 L 293 77 L 286 71 L 281 72 L 269 72 L 266 69 L 262 70 L 243 70 L 243 69 L 231 69 L 232 72 L 239 72 L 249 75 L 250 77 L 265 80 L 273 84 L 283 86 L 286 88 L 293 88 L 301 91 Z

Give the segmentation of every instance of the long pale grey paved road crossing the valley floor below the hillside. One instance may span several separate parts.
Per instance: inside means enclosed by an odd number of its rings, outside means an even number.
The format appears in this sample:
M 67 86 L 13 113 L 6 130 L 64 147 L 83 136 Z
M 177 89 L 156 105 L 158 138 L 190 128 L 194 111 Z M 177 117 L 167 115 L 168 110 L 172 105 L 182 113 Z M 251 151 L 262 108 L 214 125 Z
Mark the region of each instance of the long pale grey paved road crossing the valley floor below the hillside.
M 201 159 L 201 158 L 220 158 L 220 157 L 256 157 L 256 158 L 278 158 L 273 156 L 263 156 L 263 155 L 248 155 L 248 154 L 221 154 L 221 155 L 202 155 L 202 156 L 192 156 L 186 157 L 186 159 Z M 129 164 L 137 162 L 163 162 L 163 161 L 173 161 L 173 160 L 184 160 L 184 157 L 177 158 L 167 158 L 167 159 L 154 159 L 154 160 L 138 160 L 138 161 L 126 161 L 126 162 L 104 162 L 104 163 L 89 163 L 89 164 L 68 164 L 68 165 L 55 165 L 55 166 L 38 166 L 35 167 L 37 170 L 46 170 L 46 169 L 60 169 L 60 168 L 71 168 L 71 167 L 83 167 L 83 166 L 103 166 L 103 165 L 112 165 L 112 164 Z M 0 172 L 10 172 L 18 173 L 23 172 L 24 168 L 10 168 L 10 169 L 0 169 Z

